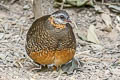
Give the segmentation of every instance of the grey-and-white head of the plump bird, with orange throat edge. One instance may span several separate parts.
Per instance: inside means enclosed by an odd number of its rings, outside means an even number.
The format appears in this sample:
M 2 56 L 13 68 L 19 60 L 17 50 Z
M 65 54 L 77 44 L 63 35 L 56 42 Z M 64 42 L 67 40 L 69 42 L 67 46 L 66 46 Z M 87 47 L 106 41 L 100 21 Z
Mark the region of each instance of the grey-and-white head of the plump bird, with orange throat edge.
M 49 20 L 51 24 L 55 27 L 64 27 L 67 23 L 71 22 L 68 13 L 63 10 L 59 10 L 51 14 Z

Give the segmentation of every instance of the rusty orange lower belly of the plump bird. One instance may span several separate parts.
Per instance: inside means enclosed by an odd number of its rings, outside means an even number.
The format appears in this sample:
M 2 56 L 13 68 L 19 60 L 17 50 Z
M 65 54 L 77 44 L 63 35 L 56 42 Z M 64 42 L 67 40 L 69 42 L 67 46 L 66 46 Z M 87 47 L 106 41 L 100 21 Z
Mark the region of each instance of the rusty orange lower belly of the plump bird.
M 30 57 L 39 64 L 55 64 L 59 66 L 70 61 L 74 54 L 74 49 L 64 49 L 59 51 L 32 52 Z

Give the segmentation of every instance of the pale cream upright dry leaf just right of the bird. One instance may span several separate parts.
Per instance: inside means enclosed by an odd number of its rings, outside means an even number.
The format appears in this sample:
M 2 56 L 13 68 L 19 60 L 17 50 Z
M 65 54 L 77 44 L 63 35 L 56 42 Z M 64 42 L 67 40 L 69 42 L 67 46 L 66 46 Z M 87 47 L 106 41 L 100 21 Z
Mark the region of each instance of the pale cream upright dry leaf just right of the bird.
M 99 40 L 98 37 L 95 33 L 95 26 L 94 25 L 90 25 L 89 29 L 88 29 L 88 35 L 87 35 L 87 40 L 94 42 L 96 44 L 99 44 Z

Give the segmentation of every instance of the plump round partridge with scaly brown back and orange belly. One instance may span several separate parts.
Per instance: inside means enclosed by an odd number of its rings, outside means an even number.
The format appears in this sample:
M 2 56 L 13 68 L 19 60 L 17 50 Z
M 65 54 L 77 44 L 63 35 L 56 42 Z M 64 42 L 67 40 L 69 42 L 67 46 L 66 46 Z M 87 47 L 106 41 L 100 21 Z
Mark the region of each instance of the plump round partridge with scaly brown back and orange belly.
M 59 67 L 74 58 L 76 39 L 69 14 L 58 10 L 36 19 L 26 35 L 28 56 L 41 65 Z

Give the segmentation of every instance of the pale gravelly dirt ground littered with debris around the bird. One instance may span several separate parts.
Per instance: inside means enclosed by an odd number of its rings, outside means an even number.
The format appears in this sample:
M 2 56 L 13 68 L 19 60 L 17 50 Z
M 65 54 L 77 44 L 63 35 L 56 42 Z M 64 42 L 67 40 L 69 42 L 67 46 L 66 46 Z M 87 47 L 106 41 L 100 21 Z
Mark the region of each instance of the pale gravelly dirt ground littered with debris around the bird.
M 2 1 L 0 1 L 2 4 Z M 44 0 L 44 14 L 51 14 L 53 0 Z M 34 21 L 29 0 L 19 0 L 0 6 L 0 80 L 120 80 L 120 16 L 112 13 L 104 5 L 99 5 L 103 13 L 110 15 L 112 31 L 103 31 L 105 22 L 94 8 L 65 9 L 78 26 L 74 28 L 77 40 L 76 56 L 84 65 L 73 75 L 56 71 L 32 70 L 36 65 L 26 54 L 26 33 Z M 89 26 L 95 25 L 100 44 L 81 40 L 87 35 Z

